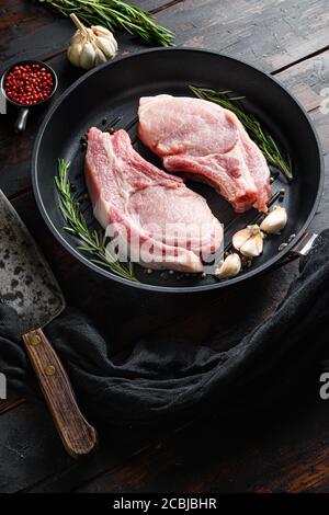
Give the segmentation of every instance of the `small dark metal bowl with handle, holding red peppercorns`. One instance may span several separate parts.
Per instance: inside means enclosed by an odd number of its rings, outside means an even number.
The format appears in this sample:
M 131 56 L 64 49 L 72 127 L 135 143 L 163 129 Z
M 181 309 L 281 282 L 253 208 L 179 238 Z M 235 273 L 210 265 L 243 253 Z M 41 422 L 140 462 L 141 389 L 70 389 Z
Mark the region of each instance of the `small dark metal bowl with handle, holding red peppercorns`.
M 4 90 L 4 82 L 5 82 L 5 78 L 7 78 L 8 73 L 10 73 L 15 66 L 22 66 L 22 65 L 39 65 L 43 68 L 46 68 L 46 70 L 52 75 L 53 80 L 54 80 L 53 90 L 49 93 L 49 95 L 46 99 L 41 100 L 39 102 L 36 102 L 33 105 L 25 105 L 25 104 L 21 104 L 19 102 L 14 102 L 9 96 L 7 96 L 7 93 L 5 93 L 5 90 Z M 12 66 L 10 66 L 4 71 L 4 73 L 1 77 L 1 82 L 0 82 L 1 92 L 2 92 L 3 96 L 5 98 L 7 102 L 9 102 L 11 105 L 19 108 L 19 114 L 18 114 L 16 121 L 14 123 L 14 131 L 15 133 L 18 133 L 18 134 L 24 133 L 30 110 L 32 110 L 34 107 L 39 107 L 42 104 L 45 104 L 46 102 L 48 102 L 54 96 L 54 94 L 57 90 L 57 85 L 58 85 L 58 79 L 57 79 L 57 76 L 56 76 L 55 71 L 53 70 L 53 68 L 50 68 L 49 65 L 46 65 L 46 62 L 43 62 L 41 60 L 35 60 L 35 59 L 21 60 L 21 61 L 14 62 Z

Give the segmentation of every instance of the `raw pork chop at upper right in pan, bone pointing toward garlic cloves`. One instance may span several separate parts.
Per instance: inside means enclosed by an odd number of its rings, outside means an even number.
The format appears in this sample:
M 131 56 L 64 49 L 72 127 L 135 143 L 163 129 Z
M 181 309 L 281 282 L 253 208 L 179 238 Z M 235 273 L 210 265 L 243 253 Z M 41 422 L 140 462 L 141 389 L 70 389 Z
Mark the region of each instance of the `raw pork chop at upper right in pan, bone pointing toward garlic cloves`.
M 139 102 L 138 136 L 172 173 L 212 184 L 237 213 L 266 211 L 266 161 L 237 116 L 201 99 L 167 94 Z

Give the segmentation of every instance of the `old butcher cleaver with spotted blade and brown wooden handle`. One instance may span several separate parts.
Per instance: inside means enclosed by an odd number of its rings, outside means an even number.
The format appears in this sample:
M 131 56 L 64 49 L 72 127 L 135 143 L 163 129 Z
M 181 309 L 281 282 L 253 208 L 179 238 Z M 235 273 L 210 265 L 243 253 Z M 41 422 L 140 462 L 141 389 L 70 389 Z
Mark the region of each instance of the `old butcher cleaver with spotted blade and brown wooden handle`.
M 59 435 L 75 457 L 98 443 L 82 416 L 70 381 L 43 329 L 65 308 L 63 293 L 19 215 L 0 190 L 0 298 L 20 319 L 24 347 Z

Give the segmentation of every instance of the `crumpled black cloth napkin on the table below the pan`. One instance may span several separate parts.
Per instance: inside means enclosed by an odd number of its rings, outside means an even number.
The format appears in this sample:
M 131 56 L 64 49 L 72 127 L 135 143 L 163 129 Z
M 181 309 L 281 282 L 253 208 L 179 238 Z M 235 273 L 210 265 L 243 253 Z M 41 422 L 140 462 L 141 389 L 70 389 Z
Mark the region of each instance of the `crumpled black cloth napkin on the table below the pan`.
M 275 312 L 243 337 L 232 333 L 226 352 L 174 339 L 141 340 L 122 363 L 114 363 L 111 334 L 104 339 L 75 310 L 67 310 L 46 332 L 79 403 L 95 423 L 141 425 L 226 412 L 239 404 L 254 408 L 282 393 L 293 398 L 306 376 L 318 381 L 315 373 L 329 343 L 328 261 L 329 229 L 300 260 L 299 275 Z M 15 390 L 35 398 L 38 389 L 18 327 L 16 313 L 1 306 L 0 370 Z

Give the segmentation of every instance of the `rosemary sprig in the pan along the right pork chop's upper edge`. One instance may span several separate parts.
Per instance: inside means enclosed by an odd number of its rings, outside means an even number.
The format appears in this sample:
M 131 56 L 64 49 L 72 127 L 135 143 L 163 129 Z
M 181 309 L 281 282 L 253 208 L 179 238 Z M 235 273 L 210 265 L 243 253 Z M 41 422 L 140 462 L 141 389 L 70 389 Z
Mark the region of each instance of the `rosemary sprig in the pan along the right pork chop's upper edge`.
M 190 85 L 190 89 L 200 99 L 208 100 L 209 102 L 214 102 L 222 107 L 232 111 L 245 125 L 250 136 L 256 140 L 266 161 L 276 167 L 288 181 L 293 180 L 290 156 L 284 157 L 272 136 L 262 129 L 256 116 L 246 113 L 240 104 L 240 101 L 243 100 L 245 96 L 232 96 L 231 91 L 214 91 L 206 88 L 196 88 L 194 85 Z

